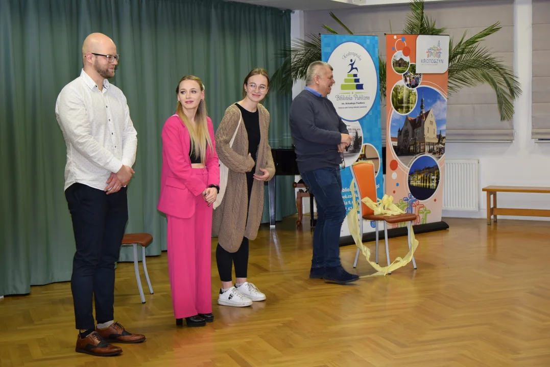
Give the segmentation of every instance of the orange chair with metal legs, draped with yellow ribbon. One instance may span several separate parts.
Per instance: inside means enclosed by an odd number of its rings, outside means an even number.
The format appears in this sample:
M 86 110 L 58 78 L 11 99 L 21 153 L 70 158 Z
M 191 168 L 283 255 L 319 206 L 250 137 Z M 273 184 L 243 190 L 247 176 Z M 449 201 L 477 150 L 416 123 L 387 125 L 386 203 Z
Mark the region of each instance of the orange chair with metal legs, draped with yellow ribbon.
M 411 223 L 416 221 L 416 214 L 404 213 L 404 214 L 399 214 L 397 216 L 384 216 L 384 215 L 376 216 L 375 212 L 361 201 L 363 197 L 368 197 L 373 202 L 377 201 L 375 166 L 369 162 L 355 163 L 353 166 L 351 166 L 351 175 L 355 180 L 355 187 L 357 189 L 357 194 L 359 194 L 359 202 L 361 203 L 361 205 L 359 206 L 359 218 L 360 218 L 359 230 L 361 234 L 361 237 L 360 237 L 361 241 L 363 239 L 363 226 L 362 226 L 363 219 L 366 219 L 367 221 L 375 222 L 376 263 L 378 264 L 378 222 L 379 221 L 384 222 L 384 240 L 386 242 L 386 260 L 389 266 L 390 263 L 389 263 L 389 250 L 388 250 L 388 223 L 407 222 L 407 230 L 408 230 L 408 237 L 409 237 L 408 242 L 409 242 L 409 249 L 410 249 L 411 248 Z M 357 266 L 357 259 L 359 258 L 359 252 L 360 250 L 357 249 L 357 253 L 355 254 L 355 261 L 353 263 L 354 268 Z M 412 256 L 412 266 L 414 266 L 414 268 L 416 269 L 416 261 L 414 259 L 414 256 Z M 388 273 L 388 274 L 392 274 L 392 273 Z

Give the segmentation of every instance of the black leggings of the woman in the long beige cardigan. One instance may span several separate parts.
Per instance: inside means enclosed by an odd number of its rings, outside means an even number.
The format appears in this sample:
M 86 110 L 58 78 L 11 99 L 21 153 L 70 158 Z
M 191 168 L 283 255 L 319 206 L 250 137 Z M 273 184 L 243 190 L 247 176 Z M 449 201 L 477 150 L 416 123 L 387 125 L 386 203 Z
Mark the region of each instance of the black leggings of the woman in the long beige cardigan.
M 246 173 L 246 185 L 248 186 L 248 206 L 250 206 L 250 194 L 252 193 L 252 183 L 254 183 L 255 169 Z M 248 219 L 248 212 L 246 214 Z M 216 247 L 216 263 L 218 265 L 219 279 L 221 281 L 232 281 L 231 272 L 233 263 L 235 263 L 235 278 L 246 278 L 248 272 L 248 238 L 243 237 L 243 242 L 237 252 L 229 252 L 224 250 L 218 244 Z

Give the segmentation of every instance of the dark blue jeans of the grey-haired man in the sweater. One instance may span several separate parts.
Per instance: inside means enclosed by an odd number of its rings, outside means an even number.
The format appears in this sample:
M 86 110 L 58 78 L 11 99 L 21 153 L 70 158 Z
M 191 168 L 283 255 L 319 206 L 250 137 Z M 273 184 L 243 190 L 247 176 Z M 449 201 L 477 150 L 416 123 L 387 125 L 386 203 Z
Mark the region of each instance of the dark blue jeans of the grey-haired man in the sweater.
M 345 218 L 342 178 L 338 168 L 300 172 L 315 196 L 317 224 L 313 233 L 312 268 L 340 266 L 340 228 Z

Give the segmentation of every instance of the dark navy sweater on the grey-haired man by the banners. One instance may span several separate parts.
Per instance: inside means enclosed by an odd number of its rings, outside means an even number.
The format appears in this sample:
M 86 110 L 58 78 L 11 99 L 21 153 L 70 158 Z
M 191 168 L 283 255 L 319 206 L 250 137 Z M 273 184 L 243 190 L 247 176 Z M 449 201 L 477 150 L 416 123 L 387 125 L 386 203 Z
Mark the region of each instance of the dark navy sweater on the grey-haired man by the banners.
M 290 106 L 290 131 L 300 172 L 337 168 L 342 162 L 338 144 L 348 128 L 328 98 L 304 89 Z

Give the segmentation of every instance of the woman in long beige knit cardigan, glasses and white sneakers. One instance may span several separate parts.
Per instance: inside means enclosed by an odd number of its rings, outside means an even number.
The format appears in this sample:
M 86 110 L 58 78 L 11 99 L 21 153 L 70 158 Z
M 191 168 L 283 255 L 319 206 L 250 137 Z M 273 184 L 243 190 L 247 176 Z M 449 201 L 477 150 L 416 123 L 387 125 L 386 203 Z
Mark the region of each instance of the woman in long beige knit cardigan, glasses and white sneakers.
M 267 71 L 250 71 L 243 83 L 243 100 L 227 108 L 215 135 L 218 158 L 229 169 L 226 192 L 212 224 L 212 232 L 218 234 L 216 262 L 222 281 L 218 304 L 224 306 L 245 307 L 266 299 L 246 276 L 249 240 L 256 238 L 263 213 L 263 182 L 275 174 L 268 143 L 270 113 L 260 104 L 269 85 Z

